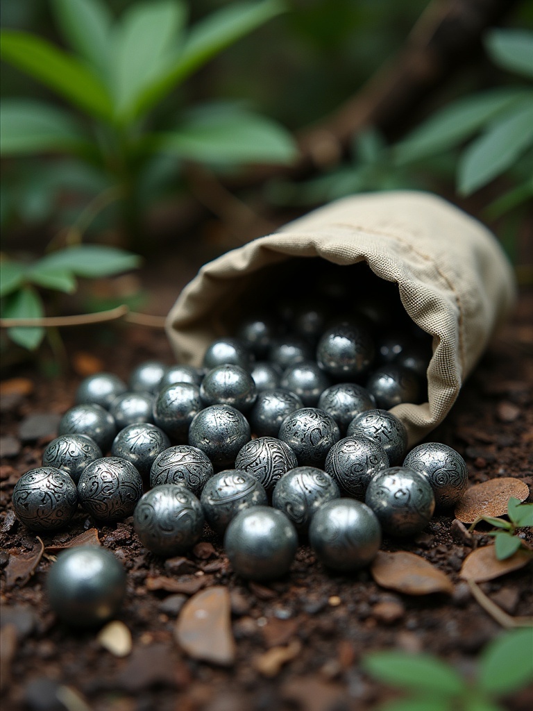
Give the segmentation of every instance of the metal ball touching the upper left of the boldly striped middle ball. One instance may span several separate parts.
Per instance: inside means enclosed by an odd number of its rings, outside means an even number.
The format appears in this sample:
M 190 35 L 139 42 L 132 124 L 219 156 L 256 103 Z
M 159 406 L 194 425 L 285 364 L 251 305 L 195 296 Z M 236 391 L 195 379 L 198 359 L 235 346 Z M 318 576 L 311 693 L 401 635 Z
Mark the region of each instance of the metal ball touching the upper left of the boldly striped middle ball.
M 210 405 L 190 423 L 189 444 L 205 452 L 215 466 L 232 466 L 249 440 L 246 417 L 230 405 Z

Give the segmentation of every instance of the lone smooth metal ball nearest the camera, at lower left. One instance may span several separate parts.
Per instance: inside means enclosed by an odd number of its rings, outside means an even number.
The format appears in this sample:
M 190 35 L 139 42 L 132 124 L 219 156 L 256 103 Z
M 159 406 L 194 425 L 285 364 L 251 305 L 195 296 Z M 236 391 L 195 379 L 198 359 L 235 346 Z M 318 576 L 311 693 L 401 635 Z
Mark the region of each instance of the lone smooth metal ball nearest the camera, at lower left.
M 46 579 L 50 607 L 67 624 L 102 624 L 119 611 L 126 572 L 111 551 L 97 545 L 64 550 Z

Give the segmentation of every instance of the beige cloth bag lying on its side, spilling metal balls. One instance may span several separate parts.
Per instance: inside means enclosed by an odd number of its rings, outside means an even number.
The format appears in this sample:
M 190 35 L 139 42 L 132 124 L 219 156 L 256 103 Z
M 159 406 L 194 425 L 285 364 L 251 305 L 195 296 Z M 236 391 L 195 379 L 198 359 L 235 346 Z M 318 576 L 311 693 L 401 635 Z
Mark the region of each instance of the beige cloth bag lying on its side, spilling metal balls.
M 492 233 L 429 193 L 344 198 L 205 264 L 168 314 L 176 358 L 200 365 L 210 342 L 232 333 L 235 306 L 252 299 L 262 269 L 317 256 L 335 264 L 364 260 L 377 277 L 397 282 L 407 314 L 433 336 L 428 402 L 392 409 L 411 447 L 446 417 L 515 296 Z

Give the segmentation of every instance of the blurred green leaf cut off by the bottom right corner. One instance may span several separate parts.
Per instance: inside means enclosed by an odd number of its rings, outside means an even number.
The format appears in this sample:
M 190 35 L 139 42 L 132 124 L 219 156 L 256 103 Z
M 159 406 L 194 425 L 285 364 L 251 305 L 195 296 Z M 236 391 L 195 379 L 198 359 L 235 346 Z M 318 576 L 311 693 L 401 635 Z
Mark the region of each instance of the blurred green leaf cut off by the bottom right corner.
M 478 685 L 489 694 L 517 691 L 533 680 L 533 627 L 500 635 L 483 650 Z

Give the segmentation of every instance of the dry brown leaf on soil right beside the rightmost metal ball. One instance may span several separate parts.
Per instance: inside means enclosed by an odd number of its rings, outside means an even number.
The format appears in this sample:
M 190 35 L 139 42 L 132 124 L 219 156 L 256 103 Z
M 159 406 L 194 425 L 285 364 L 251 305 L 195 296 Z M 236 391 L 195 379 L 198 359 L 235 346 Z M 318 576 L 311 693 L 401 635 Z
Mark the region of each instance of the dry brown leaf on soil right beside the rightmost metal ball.
M 456 518 L 473 523 L 480 516 L 505 516 L 511 496 L 525 501 L 529 486 L 520 479 L 504 476 L 471 486 L 456 506 Z

